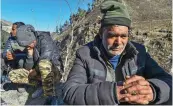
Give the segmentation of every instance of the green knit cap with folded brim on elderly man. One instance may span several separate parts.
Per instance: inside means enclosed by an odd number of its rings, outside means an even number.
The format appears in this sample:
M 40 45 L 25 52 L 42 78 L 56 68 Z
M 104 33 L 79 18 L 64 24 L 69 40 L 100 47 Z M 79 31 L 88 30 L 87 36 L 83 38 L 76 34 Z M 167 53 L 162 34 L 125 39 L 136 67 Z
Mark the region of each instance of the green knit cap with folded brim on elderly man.
M 104 14 L 101 27 L 109 25 L 131 26 L 131 19 L 121 0 L 105 0 L 101 5 Z

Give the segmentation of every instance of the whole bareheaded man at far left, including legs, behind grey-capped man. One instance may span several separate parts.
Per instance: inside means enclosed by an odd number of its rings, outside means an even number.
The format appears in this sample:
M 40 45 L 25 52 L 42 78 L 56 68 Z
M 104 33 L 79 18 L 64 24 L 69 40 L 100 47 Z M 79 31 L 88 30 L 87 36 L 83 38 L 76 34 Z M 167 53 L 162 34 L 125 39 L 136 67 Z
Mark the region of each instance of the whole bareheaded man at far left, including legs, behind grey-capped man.
M 25 25 L 23 22 L 15 22 L 12 25 L 12 30 L 10 36 L 5 43 L 5 48 L 1 53 L 1 90 L 8 90 L 9 87 L 4 87 L 5 84 L 11 83 L 8 78 L 8 73 L 11 69 L 17 68 L 27 68 L 28 64 L 24 64 L 27 57 L 27 51 L 23 47 L 19 46 L 16 41 L 16 32 L 17 29 Z M 7 85 L 8 85 L 7 84 Z

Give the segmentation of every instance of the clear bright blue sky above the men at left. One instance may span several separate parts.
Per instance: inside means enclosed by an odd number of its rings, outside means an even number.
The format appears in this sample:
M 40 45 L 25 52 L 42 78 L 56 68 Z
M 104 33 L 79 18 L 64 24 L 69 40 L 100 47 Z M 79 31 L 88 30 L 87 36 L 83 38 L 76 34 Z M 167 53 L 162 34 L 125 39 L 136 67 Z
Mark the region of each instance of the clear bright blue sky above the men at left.
M 72 12 L 78 6 L 87 9 L 92 0 L 67 0 Z M 1 0 L 1 18 L 10 22 L 32 24 L 36 30 L 55 31 L 56 25 L 69 20 L 65 0 Z

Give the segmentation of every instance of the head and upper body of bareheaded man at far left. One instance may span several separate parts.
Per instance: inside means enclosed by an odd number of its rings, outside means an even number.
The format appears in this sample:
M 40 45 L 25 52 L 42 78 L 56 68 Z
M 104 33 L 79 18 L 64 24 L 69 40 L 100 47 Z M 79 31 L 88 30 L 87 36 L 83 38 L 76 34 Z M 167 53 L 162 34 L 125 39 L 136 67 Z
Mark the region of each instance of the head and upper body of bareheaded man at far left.
M 2 58 L 11 68 L 22 68 L 26 58 L 26 51 L 16 41 L 16 31 L 20 26 L 25 25 L 23 22 L 15 22 L 12 25 L 10 37 L 6 41 Z

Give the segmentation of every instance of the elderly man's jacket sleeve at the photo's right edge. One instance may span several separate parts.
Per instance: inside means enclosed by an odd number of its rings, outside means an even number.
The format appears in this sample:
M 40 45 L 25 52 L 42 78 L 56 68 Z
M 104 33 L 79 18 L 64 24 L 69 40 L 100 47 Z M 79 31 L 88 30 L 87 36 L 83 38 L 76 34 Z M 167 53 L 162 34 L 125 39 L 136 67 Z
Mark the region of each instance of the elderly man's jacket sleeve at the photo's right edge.
M 172 76 L 165 72 L 147 53 L 145 76 L 155 90 L 154 104 L 172 104 Z

